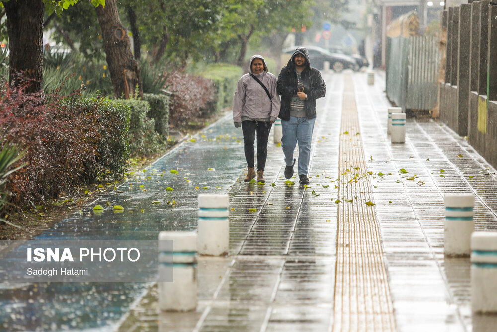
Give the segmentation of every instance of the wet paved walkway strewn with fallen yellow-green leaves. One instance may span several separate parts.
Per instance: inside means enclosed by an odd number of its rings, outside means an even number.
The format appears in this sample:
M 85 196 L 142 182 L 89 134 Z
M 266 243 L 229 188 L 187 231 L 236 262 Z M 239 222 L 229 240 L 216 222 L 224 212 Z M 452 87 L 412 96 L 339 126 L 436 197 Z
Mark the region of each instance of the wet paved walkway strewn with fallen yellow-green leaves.
M 159 313 L 151 284 L 2 284 L 0 330 L 495 331 L 471 313 L 469 258 L 443 255 L 444 193 L 473 192 L 475 228 L 497 229 L 495 170 L 428 118 L 391 144 L 383 73 L 366 75 L 323 74 L 307 188 L 285 183 L 272 135 L 266 185 L 244 183 L 227 116 L 39 236 L 156 239 L 196 228 L 199 193 L 228 193 L 230 254 L 199 257 L 196 311 Z

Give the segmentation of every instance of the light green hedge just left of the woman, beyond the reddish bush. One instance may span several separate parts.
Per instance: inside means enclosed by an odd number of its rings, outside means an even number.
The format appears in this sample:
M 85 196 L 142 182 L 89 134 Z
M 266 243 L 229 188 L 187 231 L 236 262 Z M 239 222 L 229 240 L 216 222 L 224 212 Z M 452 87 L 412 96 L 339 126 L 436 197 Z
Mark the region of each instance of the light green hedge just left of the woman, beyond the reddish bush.
M 233 105 L 233 94 L 237 88 L 238 80 L 242 76 L 242 68 L 229 64 L 208 65 L 199 73 L 201 76 L 211 79 L 214 83 L 216 93 L 216 111 Z

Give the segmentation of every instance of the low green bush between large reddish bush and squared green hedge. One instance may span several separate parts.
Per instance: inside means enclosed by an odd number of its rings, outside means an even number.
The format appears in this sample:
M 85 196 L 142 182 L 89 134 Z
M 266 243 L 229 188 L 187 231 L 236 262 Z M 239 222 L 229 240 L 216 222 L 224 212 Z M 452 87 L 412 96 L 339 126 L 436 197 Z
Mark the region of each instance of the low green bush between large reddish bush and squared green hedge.
M 132 156 L 152 155 L 161 146 L 160 135 L 155 131 L 155 121 L 147 116 L 150 105 L 144 100 L 119 99 L 130 108 L 129 143 Z

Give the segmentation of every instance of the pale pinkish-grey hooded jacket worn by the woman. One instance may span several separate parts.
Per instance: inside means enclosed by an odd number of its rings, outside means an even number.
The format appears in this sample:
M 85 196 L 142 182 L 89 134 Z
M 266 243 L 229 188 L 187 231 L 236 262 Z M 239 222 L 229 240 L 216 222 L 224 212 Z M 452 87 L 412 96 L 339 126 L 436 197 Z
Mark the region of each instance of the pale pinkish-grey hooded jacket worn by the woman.
M 279 114 L 280 99 L 276 93 L 276 76 L 267 72 L 267 70 L 260 74 L 252 73 L 266 86 L 271 95 L 271 99 L 269 99 L 264 88 L 250 76 L 252 61 L 255 58 L 262 59 L 264 62 L 261 55 L 252 56 L 248 68 L 249 72 L 242 75 L 238 81 L 237 90 L 233 98 L 234 123 L 242 122 L 242 117 L 244 119 L 269 121 L 270 117 L 276 119 Z M 265 62 L 264 67 L 266 67 Z

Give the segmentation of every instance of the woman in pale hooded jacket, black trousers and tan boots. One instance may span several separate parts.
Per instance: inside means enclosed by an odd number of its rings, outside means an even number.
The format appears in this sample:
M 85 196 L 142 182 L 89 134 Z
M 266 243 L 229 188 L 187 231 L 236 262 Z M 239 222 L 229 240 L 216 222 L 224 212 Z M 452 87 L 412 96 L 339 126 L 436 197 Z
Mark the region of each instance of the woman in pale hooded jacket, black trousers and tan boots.
M 253 144 L 257 133 L 257 182 L 264 183 L 267 139 L 271 125 L 279 114 L 280 99 L 276 93 L 276 76 L 267 71 L 261 55 L 256 54 L 250 58 L 249 70 L 237 84 L 233 98 L 233 122 L 235 127 L 242 127 L 244 134 L 248 167 L 244 181 L 248 182 L 255 177 Z

